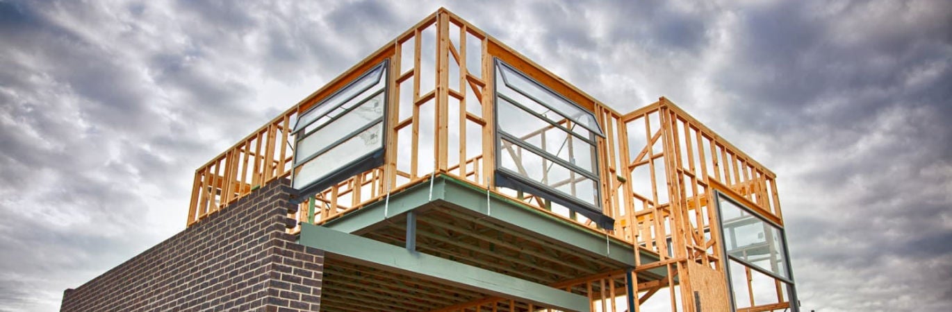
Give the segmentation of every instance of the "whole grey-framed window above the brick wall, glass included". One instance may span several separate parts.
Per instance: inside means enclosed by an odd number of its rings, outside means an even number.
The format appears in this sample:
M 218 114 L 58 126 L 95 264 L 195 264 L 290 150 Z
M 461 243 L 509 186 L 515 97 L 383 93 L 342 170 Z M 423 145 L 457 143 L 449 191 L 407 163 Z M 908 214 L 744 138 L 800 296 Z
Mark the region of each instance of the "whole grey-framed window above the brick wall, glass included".
M 302 197 L 384 165 L 387 61 L 298 118 L 291 185 Z

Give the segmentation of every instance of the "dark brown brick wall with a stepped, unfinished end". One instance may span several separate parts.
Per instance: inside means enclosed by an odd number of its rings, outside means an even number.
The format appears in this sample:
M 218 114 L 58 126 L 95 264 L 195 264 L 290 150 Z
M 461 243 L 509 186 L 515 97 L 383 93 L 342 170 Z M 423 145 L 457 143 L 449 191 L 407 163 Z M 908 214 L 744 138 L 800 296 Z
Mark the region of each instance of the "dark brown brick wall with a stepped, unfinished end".
M 286 234 L 292 189 L 265 185 L 63 295 L 61 311 L 318 311 L 322 251 Z

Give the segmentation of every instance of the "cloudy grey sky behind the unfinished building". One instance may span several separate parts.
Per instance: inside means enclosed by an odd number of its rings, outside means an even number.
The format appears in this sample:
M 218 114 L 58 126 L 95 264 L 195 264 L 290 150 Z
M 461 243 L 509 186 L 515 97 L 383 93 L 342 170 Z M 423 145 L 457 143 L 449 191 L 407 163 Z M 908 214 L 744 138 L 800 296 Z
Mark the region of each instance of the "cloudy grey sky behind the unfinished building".
M 440 3 L 0 0 L 0 311 L 185 227 L 194 169 Z M 952 310 L 948 1 L 443 4 L 772 168 L 806 310 Z

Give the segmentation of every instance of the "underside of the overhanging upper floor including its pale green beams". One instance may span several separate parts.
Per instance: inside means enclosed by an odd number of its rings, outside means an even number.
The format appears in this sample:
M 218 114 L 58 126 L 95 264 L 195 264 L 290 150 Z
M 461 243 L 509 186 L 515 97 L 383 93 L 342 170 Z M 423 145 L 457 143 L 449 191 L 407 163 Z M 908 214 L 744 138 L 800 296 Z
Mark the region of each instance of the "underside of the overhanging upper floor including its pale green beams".
M 507 311 L 588 311 L 587 292 L 625 280 L 551 285 L 634 268 L 631 244 L 446 176 L 305 224 L 300 242 L 327 253 L 324 311 L 434 311 L 486 298 L 504 299 L 493 304 Z M 642 252 L 643 263 L 658 259 Z M 664 278 L 645 271 L 637 283 Z

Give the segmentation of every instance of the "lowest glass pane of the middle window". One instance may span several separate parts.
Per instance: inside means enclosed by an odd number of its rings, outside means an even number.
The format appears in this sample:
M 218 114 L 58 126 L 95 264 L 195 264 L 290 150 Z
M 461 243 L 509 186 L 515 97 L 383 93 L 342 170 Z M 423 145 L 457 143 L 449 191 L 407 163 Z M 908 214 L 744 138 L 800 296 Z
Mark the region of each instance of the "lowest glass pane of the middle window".
M 500 167 L 523 176 L 531 181 L 559 190 L 565 195 L 575 197 L 588 205 L 598 205 L 597 183 L 584 175 L 560 166 L 555 162 L 501 140 Z

